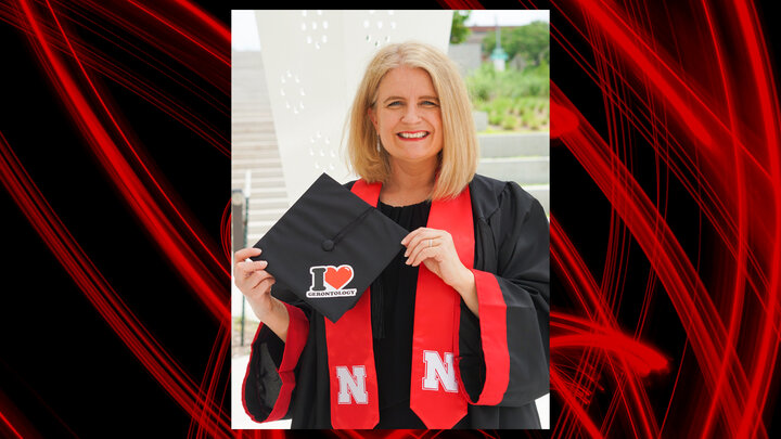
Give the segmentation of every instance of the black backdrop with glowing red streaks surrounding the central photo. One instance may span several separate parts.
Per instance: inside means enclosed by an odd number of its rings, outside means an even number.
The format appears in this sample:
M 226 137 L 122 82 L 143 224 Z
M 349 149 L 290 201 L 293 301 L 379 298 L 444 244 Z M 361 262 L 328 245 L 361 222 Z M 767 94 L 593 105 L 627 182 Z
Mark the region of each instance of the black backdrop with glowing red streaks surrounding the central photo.
M 528 436 L 777 436 L 768 3 L 430 5 L 551 11 L 552 410 Z M 230 428 L 229 7 L 9 0 L 0 38 L 0 437 L 299 435 Z

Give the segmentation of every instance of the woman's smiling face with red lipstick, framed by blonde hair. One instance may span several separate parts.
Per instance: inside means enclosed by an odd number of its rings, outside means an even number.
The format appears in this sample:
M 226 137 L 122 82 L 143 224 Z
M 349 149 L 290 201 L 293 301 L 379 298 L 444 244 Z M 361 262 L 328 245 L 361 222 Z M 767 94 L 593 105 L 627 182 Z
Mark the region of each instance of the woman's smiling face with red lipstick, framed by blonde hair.
M 388 70 L 380 81 L 369 117 L 392 164 L 436 166 L 443 149 L 441 112 L 424 69 L 402 66 Z

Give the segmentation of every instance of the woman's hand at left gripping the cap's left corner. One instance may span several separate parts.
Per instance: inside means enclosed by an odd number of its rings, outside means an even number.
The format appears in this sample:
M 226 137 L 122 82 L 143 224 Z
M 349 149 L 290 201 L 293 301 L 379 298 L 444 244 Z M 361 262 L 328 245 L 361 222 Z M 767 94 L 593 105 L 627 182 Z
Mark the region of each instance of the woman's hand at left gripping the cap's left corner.
M 253 261 L 251 257 L 259 256 L 259 248 L 242 248 L 234 255 L 235 266 L 233 267 L 233 277 L 235 285 L 246 296 L 249 305 L 258 319 L 261 321 L 268 312 L 272 311 L 273 298 L 271 297 L 271 285 L 274 284 L 274 277 L 266 271 L 268 262 L 265 260 Z

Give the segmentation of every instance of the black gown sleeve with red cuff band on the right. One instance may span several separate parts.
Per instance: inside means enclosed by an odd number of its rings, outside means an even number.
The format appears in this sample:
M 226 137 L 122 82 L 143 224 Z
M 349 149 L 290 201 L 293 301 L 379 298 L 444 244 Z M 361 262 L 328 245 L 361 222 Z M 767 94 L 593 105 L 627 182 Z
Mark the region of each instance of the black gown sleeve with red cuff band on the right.
M 549 223 L 539 202 L 508 183 L 475 218 L 479 319 L 462 304 L 459 372 L 477 405 L 521 406 L 549 392 Z

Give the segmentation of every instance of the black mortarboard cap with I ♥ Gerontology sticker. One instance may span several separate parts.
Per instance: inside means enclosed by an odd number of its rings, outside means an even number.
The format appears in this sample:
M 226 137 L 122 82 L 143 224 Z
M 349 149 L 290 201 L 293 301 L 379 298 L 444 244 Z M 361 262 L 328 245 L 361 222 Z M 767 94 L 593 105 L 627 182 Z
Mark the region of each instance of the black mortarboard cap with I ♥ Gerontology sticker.
M 327 173 L 255 244 L 277 283 L 336 322 L 402 248 L 407 230 Z M 292 297 L 289 293 L 293 293 Z

